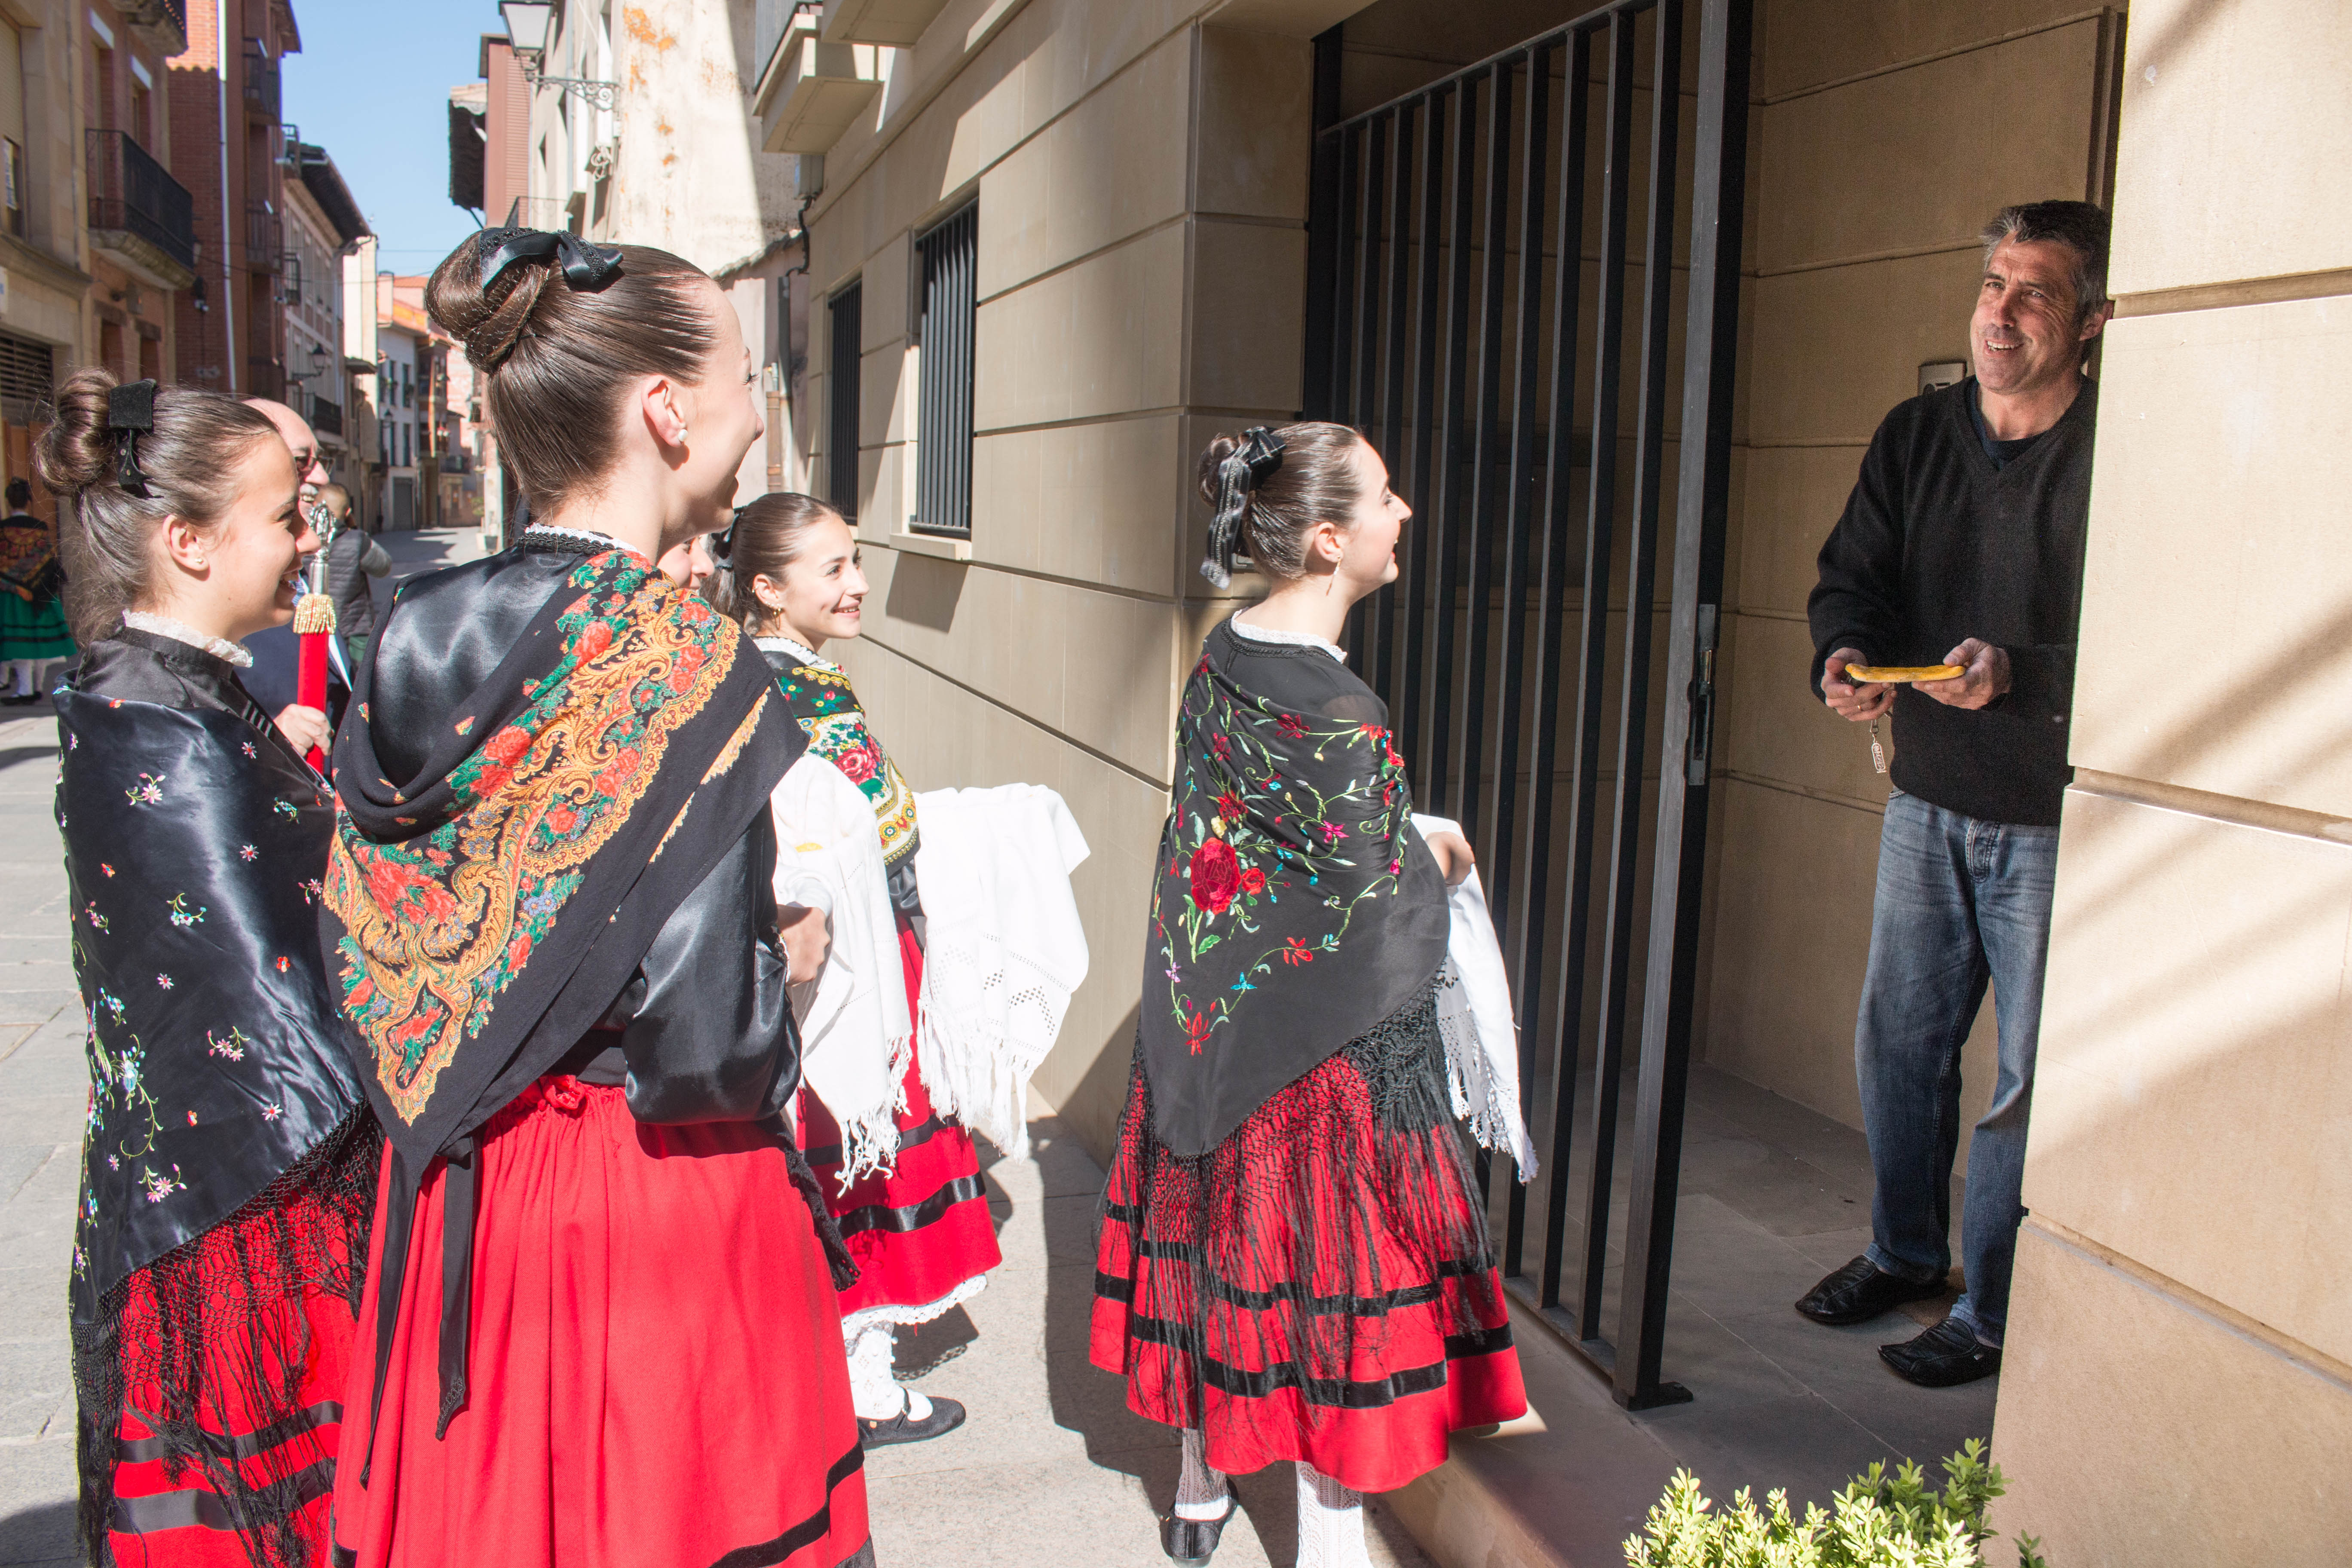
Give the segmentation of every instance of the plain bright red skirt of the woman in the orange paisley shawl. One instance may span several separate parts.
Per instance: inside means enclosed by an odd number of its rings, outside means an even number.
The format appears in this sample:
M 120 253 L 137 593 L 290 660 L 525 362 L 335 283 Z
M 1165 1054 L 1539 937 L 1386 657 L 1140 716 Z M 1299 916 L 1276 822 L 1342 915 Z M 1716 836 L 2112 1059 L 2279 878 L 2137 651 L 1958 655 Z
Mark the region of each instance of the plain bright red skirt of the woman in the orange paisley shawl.
M 621 1088 L 546 1077 L 489 1119 L 475 1159 L 468 1399 L 435 1439 L 435 1161 L 372 1443 L 372 1335 L 353 1356 L 334 1561 L 835 1568 L 856 1556 L 866 1474 L 840 1309 L 783 1147 L 746 1121 L 642 1126 Z M 362 1324 L 376 1321 L 381 1269 L 379 1258 Z

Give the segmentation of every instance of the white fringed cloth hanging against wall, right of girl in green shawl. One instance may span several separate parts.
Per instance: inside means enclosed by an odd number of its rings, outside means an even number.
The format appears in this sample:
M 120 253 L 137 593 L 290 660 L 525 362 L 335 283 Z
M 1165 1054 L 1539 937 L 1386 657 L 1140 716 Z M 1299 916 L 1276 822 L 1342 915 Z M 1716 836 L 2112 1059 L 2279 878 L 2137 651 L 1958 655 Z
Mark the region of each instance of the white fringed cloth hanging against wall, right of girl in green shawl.
M 1028 1081 L 1087 978 L 1070 872 L 1087 837 L 1042 785 L 915 797 L 922 846 L 922 1086 L 931 1107 L 1028 1159 Z

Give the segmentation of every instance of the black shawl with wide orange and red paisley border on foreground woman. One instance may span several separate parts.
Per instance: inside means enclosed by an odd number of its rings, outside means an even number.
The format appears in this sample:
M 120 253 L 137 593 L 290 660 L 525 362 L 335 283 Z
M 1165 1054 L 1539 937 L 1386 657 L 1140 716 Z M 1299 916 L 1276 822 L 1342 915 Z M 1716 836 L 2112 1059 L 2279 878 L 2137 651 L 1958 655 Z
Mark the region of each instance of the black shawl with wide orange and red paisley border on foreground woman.
M 463 632 L 501 595 L 543 602 L 485 677 L 386 698 L 437 733 L 376 733 L 379 649 L 336 738 L 320 940 L 409 1182 L 604 1016 L 797 755 L 741 628 L 635 552 L 553 581 L 506 552 L 426 585 L 388 649 L 449 604 Z M 388 755 L 421 764 L 386 778 Z

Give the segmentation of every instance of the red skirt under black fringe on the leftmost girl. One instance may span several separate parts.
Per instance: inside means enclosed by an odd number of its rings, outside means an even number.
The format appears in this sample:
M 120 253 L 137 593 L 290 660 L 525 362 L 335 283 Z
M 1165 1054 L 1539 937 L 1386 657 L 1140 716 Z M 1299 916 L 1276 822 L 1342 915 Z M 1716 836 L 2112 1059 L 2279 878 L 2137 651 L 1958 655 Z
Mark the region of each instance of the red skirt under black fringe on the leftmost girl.
M 106 1507 L 106 1544 L 122 1568 L 325 1559 L 358 1326 L 353 1253 L 367 1220 L 355 1161 L 374 1150 L 372 1128 L 339 1140 L 282 1192 L 125 1281 L 122 1420 Z M 336 1190 L 339 1166 L 353 1178 L 348 1192 Z M 165 1371 L 176 1354 L 198 1363 Z M 202 1434 L 195 1460 L 160 1420 L 191 1401 Z

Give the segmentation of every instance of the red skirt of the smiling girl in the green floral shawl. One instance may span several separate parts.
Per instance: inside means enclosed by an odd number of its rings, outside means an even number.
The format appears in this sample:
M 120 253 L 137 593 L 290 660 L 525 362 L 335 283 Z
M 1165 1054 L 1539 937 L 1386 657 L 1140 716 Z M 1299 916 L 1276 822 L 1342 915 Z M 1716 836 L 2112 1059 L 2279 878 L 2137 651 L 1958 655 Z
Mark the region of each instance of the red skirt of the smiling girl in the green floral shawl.
M 908 1016 L 920 1018 L 922 945 L 913 931 L 898 931 L 898 954 Z M 823 1100 L 800 1091 L 800 1150 L 858 1265 L 858 1284 L 842 1291 L 842 1316 L 868 1312 L 877 1321 L 917 1324 L 971 1295 L 1004 1262 L 971 1133 L 931 1110 L 920 1060 L 908 1063 L 903 1091 L 896 1168 L 870 1173 L 849 1192 L 842 1192 L 842 1128 Z

